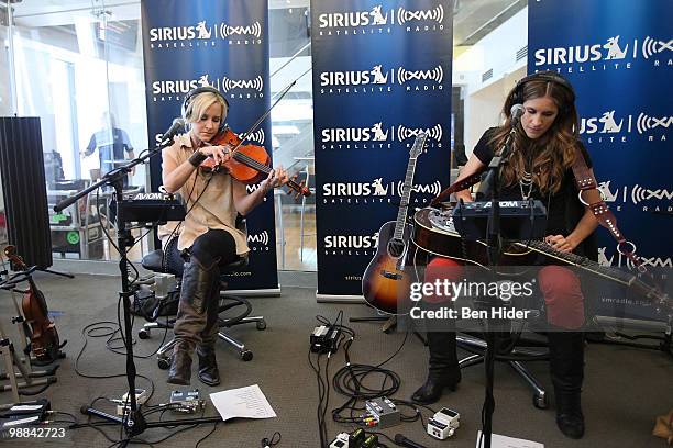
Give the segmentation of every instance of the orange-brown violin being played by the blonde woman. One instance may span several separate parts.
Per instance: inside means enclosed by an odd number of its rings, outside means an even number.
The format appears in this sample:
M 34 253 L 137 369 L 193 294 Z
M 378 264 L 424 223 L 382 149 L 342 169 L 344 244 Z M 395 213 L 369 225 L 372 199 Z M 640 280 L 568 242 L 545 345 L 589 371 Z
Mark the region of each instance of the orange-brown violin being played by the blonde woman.
M 225 146 L 229 145 L 233 149 L 231 152 L 231 158 L 221 165 L 217 165 L 212 157 L 208 157 L 200 165 L 201 171 L 205 172 L 218 172 L 221 166 L 224 166 L 232 178 L 243 183 L 258 183 L 264 180 L 272 171 L 271 157 L 266 153 L 264 146 L 260 145 L 243 145 L 243 139 L 239 135 L 225 127 L 216 134 L 214 137 L 209 142 L 213 146 Z M 311 192 L 306 187 L 305 182 L 297 182 L 297 176 L 295 175 L 286 183 L 291 190 L 295 191 L 297 198 L 310 197 Z M 289 193 L 290 191 L 288 191 Z

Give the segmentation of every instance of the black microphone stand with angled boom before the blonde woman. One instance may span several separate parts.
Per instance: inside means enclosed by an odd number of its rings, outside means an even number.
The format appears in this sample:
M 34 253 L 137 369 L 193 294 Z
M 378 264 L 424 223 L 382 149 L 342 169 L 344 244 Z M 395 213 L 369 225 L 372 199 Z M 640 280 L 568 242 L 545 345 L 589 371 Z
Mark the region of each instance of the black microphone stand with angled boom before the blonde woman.
M 129 259 L 128 253 L 129 249 L 134 244 L 133 235 L 131 234 L 131 229 L 126 226 L 126 222 L 124 221 L 124 208 L 123 208 L 123 179 L 131 171 L 133 167 L 139 164 L 145 163 L 148 158 L 161 153 L 162 149 L 170 146 L 173 144 L 173 136 L 168 136 L 165 138 L 162 144 L 159 144 L 154 149 L 151 149 L 142 157 L 137 157 L 131 160 L 129 164 L 123 165 L 119 168 L 113 169 L 103 176 L 103 178 L 91 184 L 90 187 L 79 191 L 73 197 L 66 198 L 60 201 L 58 204 L 54 206 L 54 211 L 59 212 L 67 206 L 75 203 L 80 198 L 85 197 L 89 192 L 102 187 L 102 186 L 111 186 L 114 189 L 114 199 L 117 201 L 117 245 L 120 253 L 119 260 L 119 270 L 121 273 L 121 285 L 122 290 L 119 293 L 120 299 L 123 303 L 123 314 L 124 314 L 124 331 L 123 331 L 123 341 L 126 351 L 126 380 L 129 383 L 129 413 L 123 417 L 118 417 L 114 415 L 109 415 L 102 411 L 98 411 L 93 407 L 82 406 L 82 414 L 96 415 L 98 417 L 104 418 L 110 422 L 120 423 L 128 437 L 122 440 L 120 447 L 125 447 L 131 438 L 142 434 L 146 428 L 151 427 L 167 427 L 175 425 L 194 425 L 194 424 L 202 424 L 202 423 L 212 423 L 212 422 L 221 422 L 221 417 L 203 417 L 203 418 L 187 418 L 170 422 L 145 422 L 143 414 L 141 413 L 136 399 L 135 399 L 135 363 L 133 360 L 133 337 L 132 337 L 132 325 L 131 325 L 131 295 L 133 294 L 133 290 L 131 289 L 131 284 L 129 282 Z

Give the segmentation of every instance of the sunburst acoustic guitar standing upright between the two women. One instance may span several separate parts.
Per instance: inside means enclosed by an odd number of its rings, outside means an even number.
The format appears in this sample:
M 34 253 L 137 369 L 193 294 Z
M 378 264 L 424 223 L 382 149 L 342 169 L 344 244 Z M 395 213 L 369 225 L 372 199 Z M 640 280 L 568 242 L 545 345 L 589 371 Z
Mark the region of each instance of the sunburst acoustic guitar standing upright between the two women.
M 400 296 L 409 296 L 411 279 L 405 271 L 409 240 L 413 227 L 407 223 L 407 209 L 413 187 L 416 160 L 422 153 L 428 135 L 419 133 L 409 152 L 407 175 L 402 184 L 401 202 L 397 211 L 397 221 L 388 221 L 378 231 L 378 247 L 369 266 L 362 277 L 362 293 L 367 303 L 388 314 L 406 314 L 398 310 Z M 398 303 L 399 302 L 399 303 Z

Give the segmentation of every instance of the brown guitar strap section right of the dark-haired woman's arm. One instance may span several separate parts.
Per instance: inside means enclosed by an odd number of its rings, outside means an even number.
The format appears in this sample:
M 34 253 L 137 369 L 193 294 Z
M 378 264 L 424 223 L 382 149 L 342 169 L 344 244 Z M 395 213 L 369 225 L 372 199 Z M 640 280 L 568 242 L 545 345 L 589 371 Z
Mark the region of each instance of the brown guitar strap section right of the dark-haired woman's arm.
M 572 169 L 575 176 L 575 184 L 580 190 L 577 194 L 580 202 L 589 208 L 598 223 L 607 228 L 610 235 L 617 240 L 617 251 L 630 259 L 639 271 L 646 272 L 647 269 L 636 256 L 636 245 L 627 240 L 619 228 L 617 228 L 617 217 L 603 200 L 598 191 L 596 178 L 587 167 L 584 155 L 578 148 L 576 149 L 576 157 Z

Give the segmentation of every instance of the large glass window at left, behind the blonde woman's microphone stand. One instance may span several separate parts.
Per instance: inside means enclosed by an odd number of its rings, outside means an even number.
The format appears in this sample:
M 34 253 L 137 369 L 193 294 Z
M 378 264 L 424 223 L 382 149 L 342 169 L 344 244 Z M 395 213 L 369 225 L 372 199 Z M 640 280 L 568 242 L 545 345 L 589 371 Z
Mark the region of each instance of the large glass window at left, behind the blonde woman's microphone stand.
M 41 119 L 49 204 L 147 147 L 140 2 L 63 3 L 15 3 L 11 36 L 18 112 Z M 126 191 L 143 191 L 144 166 L 123 182 Z M 104 237 L 115 236 L 110 195 L 106 188 L 62 213 L 49 211 L 55 258 L 119 258 Z M 141 257 L 139 245 L 131 259 Z

